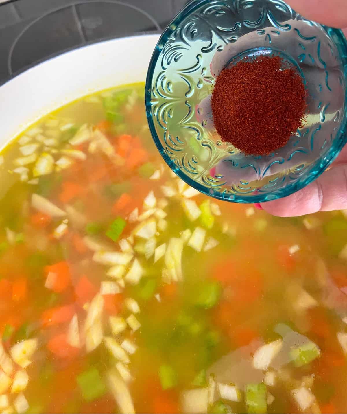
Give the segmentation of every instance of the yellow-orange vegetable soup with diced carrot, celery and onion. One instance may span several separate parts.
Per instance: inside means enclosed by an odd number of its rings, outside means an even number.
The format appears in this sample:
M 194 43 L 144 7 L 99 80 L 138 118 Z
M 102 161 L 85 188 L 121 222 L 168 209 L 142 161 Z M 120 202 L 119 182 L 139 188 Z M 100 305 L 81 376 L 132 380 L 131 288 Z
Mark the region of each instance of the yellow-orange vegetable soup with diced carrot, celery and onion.
M 346 412 L 347 213 L 198 193 L 143 100 L 87 96 L 2 152 L 0 411 Z

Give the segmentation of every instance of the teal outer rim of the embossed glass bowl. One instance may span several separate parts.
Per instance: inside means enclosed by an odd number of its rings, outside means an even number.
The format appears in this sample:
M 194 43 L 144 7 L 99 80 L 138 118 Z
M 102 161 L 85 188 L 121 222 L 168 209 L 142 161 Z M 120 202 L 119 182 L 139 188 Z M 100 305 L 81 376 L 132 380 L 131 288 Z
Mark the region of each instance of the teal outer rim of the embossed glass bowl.
M 241 193 L 228 194 L 226 193 L 226 191 L 220 192 L 219 190 L 212 190 L 211 188 L 208 188 L 205 185 L 202 185 L 201 183 L 198 183 L 186 176 L 182 172 L 182 170 L 176 166 L 174 161 L 170 159 L 168 154 L 166 154 L 162 144 L 160 143 L 160 139 L 158 137 L 156 128 L 153 123 L 151 106 L 152 81 L 156 63 L 158 61 L 161 51 L 163 50 L 163 47 L 165 46 L 165 43 L 168 41 L 172 33 L 176 30 L 177 26 L 179 26 L 180 22 L 182 22 L 183 19 L 189 16 L 189 14 L 194 12 L 196 9 L 208 4 L 209 2 L 210 0 L 191 0 L 187 5 L 185 5 L 183 9 L 176 14 L 176 16 L 171 20 L 166 29 L 163 31 L 153 51 L 148 66 L 145 87 L 146 116 L 152 138 L 165 163 L 168 164 L 172 171 L 174 171 L 177 174 L 177 176 L 179 176 L 179 178 L 181 178 L 185 183 L 187 183 L 188 185 L 190 185 L 191 187 L 195 188 L 203 194 L 209 195 L 217 200 L 244 204 L 266 202 L 270 200 L 276 200 L 282 197 L 287 197 L 288 195 L 296 193 L 297 191 L 306 187 L 306 185 L 309 185 L 314 180 L 316 180 L 316 178 L 318 178 L 326 170 L 326 168 L 330 166 L 330 164 L 335 160 L 338 154 L 340 154 L 344 145 L 347 143 L 347 88 L 345 90 L 345 108 L 343 113 L 343 119 L 341 120 L 339 131 L 337 132 L 337 135 L 334 138 L 328 153 L 325 154 L 324 158 L 318 158 L 315 163 L 311 164 L 309 173 L 307 173 L 305 177 L 299 178 L 295 183 L 287 184 L 285 188 L 275 190 L 271 193 L 259 194 L 258 192 L 256 192 L 256 194 L 254 195 L 247 195 L 245 197 Z M 294 13 L 296 13 L 291 7 L 290 9 Z M 323 24 L 319 24 L 319 26 L 321 26 L 330 35 L 330 37 L 334 37 L 333 40 L 340 55 L 341 67 L 343 69 L 345 78 L 347 78 L 347 40 L 345 38 L 345 35 L 340 29 L 335 29 L 329 26 L 325 26 Z

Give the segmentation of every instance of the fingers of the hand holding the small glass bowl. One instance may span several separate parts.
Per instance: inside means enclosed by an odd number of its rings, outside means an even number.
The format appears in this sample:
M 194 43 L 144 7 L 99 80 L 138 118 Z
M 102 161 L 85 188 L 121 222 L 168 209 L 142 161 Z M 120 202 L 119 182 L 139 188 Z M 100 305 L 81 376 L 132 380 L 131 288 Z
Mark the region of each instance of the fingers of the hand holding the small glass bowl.
M 345 0 L 288 0 L 294 10 L 318 23 L 347 27 Z M 343 29 L 347 36 L 347 29 Z M 347 147 L 332 166 L 313 183 L 288 197 L 261 203 L 261 207 L 280 217 L 301 216 L 318 211 L 347 209 Z

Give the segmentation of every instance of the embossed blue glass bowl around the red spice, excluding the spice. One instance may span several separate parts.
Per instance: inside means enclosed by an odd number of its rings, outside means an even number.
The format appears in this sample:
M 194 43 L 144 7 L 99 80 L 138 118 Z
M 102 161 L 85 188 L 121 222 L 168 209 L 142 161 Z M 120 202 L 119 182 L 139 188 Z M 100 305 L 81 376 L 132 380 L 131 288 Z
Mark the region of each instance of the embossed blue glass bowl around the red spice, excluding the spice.
M 246 156 L 215 131 L 211 91 L 223 67 L 269 54 L 302 77 L 307 123 L 273 154 Z M 323 173 L 346 142 L 346 73 L 342 31 L 305 19 L 282 0 L 193 0 L 153 52 L 149 128 L 170 168 L 202 193 L 239 203 L 285 197 Z

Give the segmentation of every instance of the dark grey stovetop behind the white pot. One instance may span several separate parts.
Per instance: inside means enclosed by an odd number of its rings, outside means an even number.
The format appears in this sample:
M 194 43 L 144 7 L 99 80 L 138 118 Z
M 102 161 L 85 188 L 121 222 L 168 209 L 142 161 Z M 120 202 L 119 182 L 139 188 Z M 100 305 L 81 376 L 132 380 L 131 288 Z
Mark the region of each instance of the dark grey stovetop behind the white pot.
M 187 0 L 2 1 L 0 84 L 26 67 L 89 42 L 160 33 L 187 3 Z

